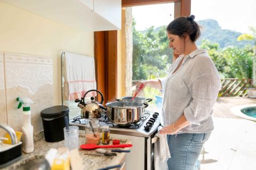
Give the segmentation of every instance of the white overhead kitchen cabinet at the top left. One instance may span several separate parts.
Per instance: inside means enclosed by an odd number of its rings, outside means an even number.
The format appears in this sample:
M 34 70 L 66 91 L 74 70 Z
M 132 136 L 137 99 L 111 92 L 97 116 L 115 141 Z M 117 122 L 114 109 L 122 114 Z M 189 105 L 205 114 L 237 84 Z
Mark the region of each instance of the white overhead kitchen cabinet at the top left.
M 82 31 L 121 29 L 121 0 L 0 0 Z

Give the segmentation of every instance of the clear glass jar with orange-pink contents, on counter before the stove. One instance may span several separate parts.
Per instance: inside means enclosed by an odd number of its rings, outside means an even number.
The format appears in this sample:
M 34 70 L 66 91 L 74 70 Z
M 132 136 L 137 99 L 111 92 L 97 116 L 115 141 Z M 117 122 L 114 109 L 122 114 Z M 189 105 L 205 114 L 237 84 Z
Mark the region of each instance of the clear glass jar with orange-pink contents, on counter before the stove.
M 100 144 L 100 124 L 97 119 L 87 121 L 85 127 L 85 143 Z

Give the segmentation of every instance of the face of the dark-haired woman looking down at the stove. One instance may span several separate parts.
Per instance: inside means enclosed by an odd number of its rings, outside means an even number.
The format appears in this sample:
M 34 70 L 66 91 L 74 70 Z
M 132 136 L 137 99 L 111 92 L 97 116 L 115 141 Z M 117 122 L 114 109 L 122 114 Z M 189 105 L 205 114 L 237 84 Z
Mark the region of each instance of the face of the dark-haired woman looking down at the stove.
M 169 39 L 169 47 L 173 49 L 175 54 L 184 53 L 184 38 L 177 35 L 172 35 L 167 32 L 167 37 Z

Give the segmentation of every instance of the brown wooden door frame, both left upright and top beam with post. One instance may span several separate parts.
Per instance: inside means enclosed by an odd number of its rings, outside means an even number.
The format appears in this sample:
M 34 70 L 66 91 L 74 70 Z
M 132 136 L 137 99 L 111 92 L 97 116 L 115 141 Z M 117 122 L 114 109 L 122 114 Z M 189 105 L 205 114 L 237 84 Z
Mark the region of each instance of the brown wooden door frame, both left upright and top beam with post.
M 189 16 L 191 0 L 122 0 L 122 7 L 180 2 L 180 16 Z M 117 30 L 94 32 L 94 57 L 97 89 L 105 103 L 117 94 Z

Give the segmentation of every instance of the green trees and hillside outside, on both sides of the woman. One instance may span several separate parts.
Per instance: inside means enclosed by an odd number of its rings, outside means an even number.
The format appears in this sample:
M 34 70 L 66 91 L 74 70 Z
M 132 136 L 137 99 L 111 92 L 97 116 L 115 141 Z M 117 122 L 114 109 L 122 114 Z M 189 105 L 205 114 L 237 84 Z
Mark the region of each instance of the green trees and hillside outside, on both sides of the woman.
M 214 21 L 214 20 L 213 20 Z M 218 23 L 208 20 L 207 28 Z M 154 29 L 150 27 L 145 31 L 135 30 L 135 21 L 133 20 L 133 80 L 147 80 L 151 75 L 154 77 L 164 77 L 172 63 L 172 50 L 169 48 L 169 41 L 166 36 L 165 28 L 162 26 Z M 210 26 L 209 26 L 210 25 Z M 215 27 L 214 26 L 214 27 Z M 219 27 L 219 26 L 218 26 Z M 221 28 L 218 28 L 218 30 Z M 254 29 L 255 30 L 255 29 Z M 220 31 L 220 30 L 219 30 Z M 213 62 L 220 72 L 221 78 L 252 78 L 252 61 L 253 61 L 253 43 L 250 39 L 238 42 L 236 38 L 241 33 L 235 32 L 235 41 L 229 39 L 234 37 L 232 31 L 223 30 L 222 33 L 214 29 L 208 29 L 209 35 L 218 34 L 220 43 L 213 43 L 208 39 L 201 39 L 199 48 L 206 49 Z M 226 33 L 226 34 L 225 34 Z M 234 31 L 233 31 L 234 33 Z M 225 38 L 220 38 L 220 37 Z M 254 35 L 255 36 L 255 32 Z M 204 36 L 205 37 L 205 36 Z M 250 36 L 249 36 L 250 38 Z M 255 39 L 253 39 L 255 40 Z M 232 41 L 233 45 L 230 45 Z M 221 45 L 228 45 L 221 47 Z

